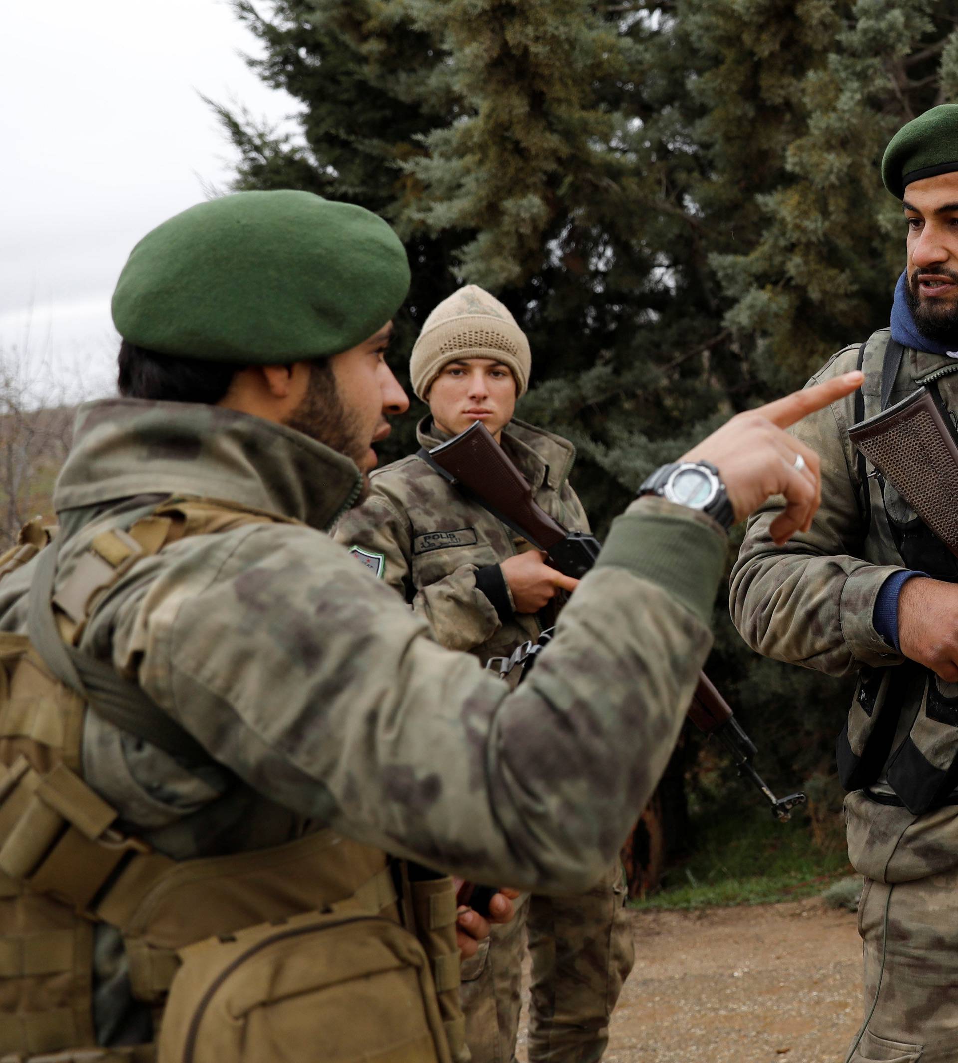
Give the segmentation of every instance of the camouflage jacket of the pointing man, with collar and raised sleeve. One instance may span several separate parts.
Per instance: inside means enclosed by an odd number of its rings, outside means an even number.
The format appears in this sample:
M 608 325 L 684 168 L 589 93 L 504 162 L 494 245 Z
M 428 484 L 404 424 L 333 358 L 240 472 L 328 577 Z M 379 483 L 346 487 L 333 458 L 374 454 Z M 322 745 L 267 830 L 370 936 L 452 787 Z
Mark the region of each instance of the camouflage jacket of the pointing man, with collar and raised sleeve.
M 633 504 L 510 692 L 321 530 L 360 483 L 340 454 L 257 418 L 130 400 L 81 409 L 55 493 L 58 579 L 95 534 L 169 493 L 303 522 L 183 539 L 123 574 L 81 648 L 136 679 L 220 769 L 192 774 L 88 713 L 85 778 L 176 858 L 328 825 L 480 881 L 585 888 L 678 736 L 725 537 L 661 500 Z M 24 630 L 34 569 L 0 584 L 0 629 Z

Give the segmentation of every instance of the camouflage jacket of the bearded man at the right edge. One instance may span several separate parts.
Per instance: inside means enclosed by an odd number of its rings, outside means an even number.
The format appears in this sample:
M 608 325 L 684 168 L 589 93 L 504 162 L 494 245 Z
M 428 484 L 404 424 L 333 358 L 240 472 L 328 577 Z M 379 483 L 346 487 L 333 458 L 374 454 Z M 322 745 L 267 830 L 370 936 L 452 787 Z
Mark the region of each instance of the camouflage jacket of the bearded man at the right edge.
M 868 340 L 868 351 L 875 354 L 867 359 L 870 371 L 862 387 L 869 408 L 879 403 L 880 354 L 888 335 L 879 330 Z M 839 351 L 810 383 L 855 369 L 858 354 L 857 343 Z M 906 349 L 890 403 L 914 391 L 918 378 L 953 365 L 950 358 Z M 938 387 L 954 416 L 958 376 L 944 376 Z M 858 452 L 848 436 L 855 419 L 855 400 L 849 395 L 789 429 L 821 456 L 821 507 L 808 532 L 776 546 L 768 529 L 782 500 L 770 500 L 751 519 L 732 573 L 732 617 L 746 642 L 769 657 L 832 675 L 885 670 L 904 661 L 873 623 L 883 584 L 906 566 L 889 532 L 880 489 L 872 477 L 862 483 Z M 892 749 L 907 737 L 923 699 L 920 670 L 909 669 L 903 677 L 896 687 L 901 713 Z M 890 792 L 883 779 L 878 788 Z M 958 865 L 956 812 L 946 806 L 914 816 L 856 791 L 845 802 L 852 862 L 882 881 L 905 881 Z

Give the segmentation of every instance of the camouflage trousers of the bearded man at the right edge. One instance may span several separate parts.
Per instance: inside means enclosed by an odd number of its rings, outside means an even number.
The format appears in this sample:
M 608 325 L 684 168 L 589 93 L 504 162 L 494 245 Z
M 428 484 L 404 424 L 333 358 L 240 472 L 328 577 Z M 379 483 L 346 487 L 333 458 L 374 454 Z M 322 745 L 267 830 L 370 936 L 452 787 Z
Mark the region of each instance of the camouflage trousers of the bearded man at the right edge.
M 886 885 L 858 906 L 865 1015 L 851 1063 L 958 1060 L 958 870 Z

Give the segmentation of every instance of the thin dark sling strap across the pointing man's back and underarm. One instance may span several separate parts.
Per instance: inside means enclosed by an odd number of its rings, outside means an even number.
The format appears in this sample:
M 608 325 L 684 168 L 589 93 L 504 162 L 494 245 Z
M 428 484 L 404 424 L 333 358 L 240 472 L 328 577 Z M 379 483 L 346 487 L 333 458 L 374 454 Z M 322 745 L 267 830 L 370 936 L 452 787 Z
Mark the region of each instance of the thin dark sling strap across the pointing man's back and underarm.
M 83 697 L 103 720 L 191 765 L 208 764 L 209 754 L 135 682 L 112 665 L 68 645 L 53 614 L 53 580 L 59 540 L 40 552 L 30 587 L 28 631 L 37 653 L 61 682 Z

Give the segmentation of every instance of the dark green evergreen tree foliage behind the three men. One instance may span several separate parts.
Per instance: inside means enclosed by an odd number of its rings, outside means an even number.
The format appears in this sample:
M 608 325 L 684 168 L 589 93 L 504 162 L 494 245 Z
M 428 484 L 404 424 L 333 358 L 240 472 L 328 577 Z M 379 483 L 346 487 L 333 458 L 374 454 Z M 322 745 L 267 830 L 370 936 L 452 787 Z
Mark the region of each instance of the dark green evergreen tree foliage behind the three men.
M 878 162 L 958 92 L 944 0 L 236 0 L 294 132 L 217 106 L 234 187 L 388 218 L 418 324 L 464 282 L 530 336 L 519 416 L 572 439 L 601 533 L 657 465 L 887 323 Z M 420 410 L 421 411 L 421 410 Z M 411 449 L 409 418 L 386 457 Z M 709 671 L 772 778 L 828 775 L 846 695 L 716 610 Z

